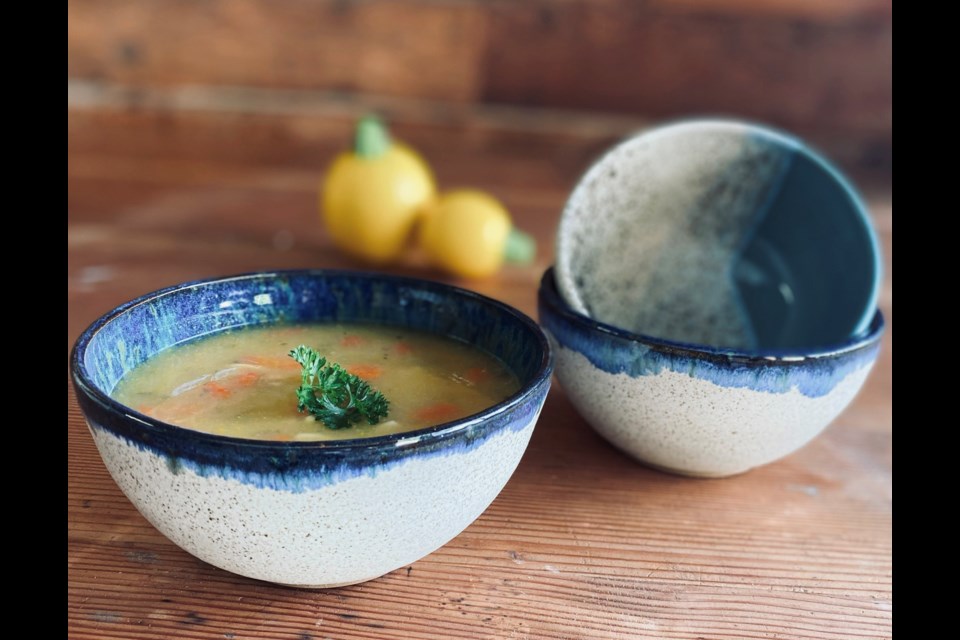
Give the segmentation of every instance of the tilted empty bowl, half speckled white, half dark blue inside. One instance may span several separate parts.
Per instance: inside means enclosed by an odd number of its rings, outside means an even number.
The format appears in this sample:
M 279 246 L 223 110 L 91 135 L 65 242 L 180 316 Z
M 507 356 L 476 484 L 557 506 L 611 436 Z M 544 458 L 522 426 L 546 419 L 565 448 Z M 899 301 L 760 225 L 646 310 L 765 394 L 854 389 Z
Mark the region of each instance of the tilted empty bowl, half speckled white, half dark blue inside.
M 561 216 L 557 286 L 576 311 L 667 340 L 823 350 L 871 327 L 881 283 L 869 215 L 801 141 L 694 120 L 632 137 Z

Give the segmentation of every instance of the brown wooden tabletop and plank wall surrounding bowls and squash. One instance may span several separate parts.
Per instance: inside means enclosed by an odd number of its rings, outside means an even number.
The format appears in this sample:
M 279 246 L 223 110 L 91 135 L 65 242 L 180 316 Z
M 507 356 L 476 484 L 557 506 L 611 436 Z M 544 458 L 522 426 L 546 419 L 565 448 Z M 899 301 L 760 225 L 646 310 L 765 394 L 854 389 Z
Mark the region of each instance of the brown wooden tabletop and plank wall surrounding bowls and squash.
M 68 348 L 164 285 L 365 266 L 331 247 L 316 198 L 369 110 L 442 186 L 491 190 L 537 237 L 535 264 L 456 283 L 529 314 L 566 195 L 614 141 L 703 114 L 785 128 L 867 196 L 888 322 L 867 387 L 823 436 L 722 481 L 637 465 L 556 385 L 516 474 L 463 534 L 409 570 L 319 592 L 231 576 L 166 540 L 110 479 L 70 393 L 68 637 L 891 636 L 889 0 L 67 8 Z

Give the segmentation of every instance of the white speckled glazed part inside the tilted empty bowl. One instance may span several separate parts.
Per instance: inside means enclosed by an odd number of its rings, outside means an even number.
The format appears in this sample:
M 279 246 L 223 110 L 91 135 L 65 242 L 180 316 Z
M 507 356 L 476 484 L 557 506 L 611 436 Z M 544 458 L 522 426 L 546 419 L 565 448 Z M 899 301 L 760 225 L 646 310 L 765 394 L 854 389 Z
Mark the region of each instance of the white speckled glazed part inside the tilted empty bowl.
M 753 346 L 729 265 L 784 160 L 744 130 L 657 129 L 590 169 L 557 231 L 557 286 L 570 306 L 630 331 Z M 749 172 L 752 188 L 714 189 L 727 167 Z

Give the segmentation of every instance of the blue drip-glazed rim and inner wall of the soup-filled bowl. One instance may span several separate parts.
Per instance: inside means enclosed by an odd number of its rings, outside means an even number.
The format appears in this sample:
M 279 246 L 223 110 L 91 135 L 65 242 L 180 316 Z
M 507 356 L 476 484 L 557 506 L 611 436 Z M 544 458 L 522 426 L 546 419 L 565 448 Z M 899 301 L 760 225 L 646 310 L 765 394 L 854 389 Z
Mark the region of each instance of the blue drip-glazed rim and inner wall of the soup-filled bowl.
M 125 373 L 184 342 L 277 322 L 380 323 L 447 335 L 498 357 L 520 378 L 514 396 L 471 418 L 419 431 L 328 442 L 274 443 L 169 425 L 109 397 Z M 305 491 L 376 474 L 410 457 L 465 453 L 533 420 L 553 358 L 540 328 L 500 302 L 436 282 L 345 271 L 282 271 L 170 287 L 126 303 L 77 340 L 71 373 L 93 429 L 165 459 L 171 471 Z

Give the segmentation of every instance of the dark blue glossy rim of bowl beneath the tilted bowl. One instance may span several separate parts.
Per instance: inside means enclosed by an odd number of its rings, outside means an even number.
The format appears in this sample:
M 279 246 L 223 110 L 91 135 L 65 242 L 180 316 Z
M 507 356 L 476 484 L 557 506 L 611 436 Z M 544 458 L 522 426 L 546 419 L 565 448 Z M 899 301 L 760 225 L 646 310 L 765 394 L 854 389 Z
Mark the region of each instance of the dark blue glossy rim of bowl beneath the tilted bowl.
M 707 358 L 716 361 L 739 361 L 739 362 L 762 362 L 765 364 L 795 365 L 801 362 L 807 362 L 818 359 L 836 358 L 847 355 L 860 349 L 864 349 L 876 344 L 883 335 L 886 323 L 883 319 L 879 307 L 873 314 L 865 332 L 851 337 L 849 340 L 837 345 L 828 345 L 818 347 L 805 352 L 793 350 L 767 350 L 752 351 L 728 349 L 723 347 L 712 347 L 709 345 L 695 344 L 690 342 L 680 342 L 668 340 L 665 338 L 655 338 L 643 333 L 634 333 L 621 329 L 614 325 L 606 324 L 594 320 L 588 316 L 576 311 L 560 295 L 557 289 L 556 278 L 554 277 L 554 267 L 547 268 L 540 279 L 539 298 L 551 310 L 551 312 L 563 317 L 571 324 L 585 328 L 591 333 L 606 334 L 629 342 L 637 342 L 648 345 L 651 348 L 665 353 L 686 356 L 688 358 L 703 359 Z

